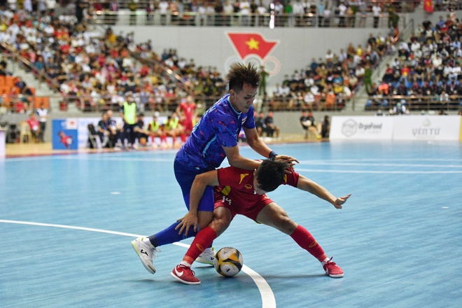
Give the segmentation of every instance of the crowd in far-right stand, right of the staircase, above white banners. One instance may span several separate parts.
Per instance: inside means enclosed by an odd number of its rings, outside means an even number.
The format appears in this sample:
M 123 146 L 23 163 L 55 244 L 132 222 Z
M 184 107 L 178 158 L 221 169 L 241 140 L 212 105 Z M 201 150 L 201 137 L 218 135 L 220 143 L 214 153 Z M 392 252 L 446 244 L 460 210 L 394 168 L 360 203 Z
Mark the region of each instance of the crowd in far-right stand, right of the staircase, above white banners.
M 366 109 L 388 108 L 397 102 L 407 110 L 422 102 L 459 104 L 462 94 L 462 22 L 451 12 L 433 25 L 422 22 L 407 42 L 398 45 L 398 56 L 387 64 L 383 78 L 372 83 Z M 414 100 L 392 95 L 414 97 Z M 454 102 L 451 101 L 454 97 Z

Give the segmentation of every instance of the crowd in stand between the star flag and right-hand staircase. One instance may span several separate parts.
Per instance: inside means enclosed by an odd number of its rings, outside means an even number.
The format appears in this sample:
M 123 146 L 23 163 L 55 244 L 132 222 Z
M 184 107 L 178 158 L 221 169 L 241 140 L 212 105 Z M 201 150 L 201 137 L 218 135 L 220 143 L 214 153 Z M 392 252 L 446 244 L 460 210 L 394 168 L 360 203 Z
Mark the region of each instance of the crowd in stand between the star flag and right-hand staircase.
M 358 85 L 369 83 L 372 68 L 380 59 L 395 52 L 394 44 L 393 33 L 370 34 L 364 45 L 350 43 L 338 53 L 327 50 L 325 57 L 313 58 L 307 66 L 285 76 L 267 104 L 273 110 L 340 110 Z

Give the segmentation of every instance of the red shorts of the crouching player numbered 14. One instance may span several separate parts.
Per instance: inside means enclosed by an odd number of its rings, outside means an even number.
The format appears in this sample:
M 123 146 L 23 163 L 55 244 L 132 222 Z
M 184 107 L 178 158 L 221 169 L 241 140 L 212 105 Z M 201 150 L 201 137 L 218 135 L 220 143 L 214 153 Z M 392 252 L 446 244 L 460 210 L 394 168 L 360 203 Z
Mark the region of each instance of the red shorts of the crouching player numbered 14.
M 258 222 L 257 216 L 260 211 L 266 207 L 267 204 L 273 202 L 273 200 L 269 199 L 268 197 L 262 196 L 257 202 L 251 204 L 249 207 L 246 205 L 243 206 L 242 204 L 238 204 L 237 202 L 233 202 L 233 200 L 230 200 L 227 196 L 217 191 L 214 192 L 214 195 L 215 209 L 218 207 L 225 207 L 226 209 L 229 209 L 231 211 L 231 220 L 232 218 L 235 218 L 237 214 L 240 214 L 250 218 L 255 222 Z

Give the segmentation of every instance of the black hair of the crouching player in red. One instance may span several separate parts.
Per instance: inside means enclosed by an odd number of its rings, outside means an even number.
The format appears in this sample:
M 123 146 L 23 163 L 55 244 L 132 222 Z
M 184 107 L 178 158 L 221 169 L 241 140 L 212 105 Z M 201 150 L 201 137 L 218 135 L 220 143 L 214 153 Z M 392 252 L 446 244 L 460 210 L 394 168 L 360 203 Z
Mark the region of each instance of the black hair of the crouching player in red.
M 284 182 L 288 163 L 283 160 L 263 160 L 257 169 L 255 178 L 261 190 L 270 192 Z

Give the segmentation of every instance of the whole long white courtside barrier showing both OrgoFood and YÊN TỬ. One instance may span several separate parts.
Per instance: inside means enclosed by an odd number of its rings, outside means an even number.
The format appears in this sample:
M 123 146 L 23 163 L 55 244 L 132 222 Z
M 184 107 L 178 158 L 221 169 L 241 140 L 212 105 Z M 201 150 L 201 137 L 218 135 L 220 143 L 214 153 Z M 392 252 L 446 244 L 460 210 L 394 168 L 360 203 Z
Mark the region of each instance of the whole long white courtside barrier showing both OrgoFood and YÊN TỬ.
M 333 116 L 330 140 L 462 140 L 461 116 Z

